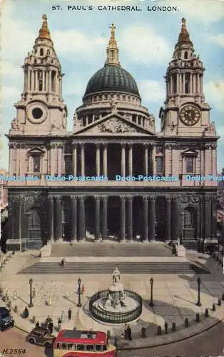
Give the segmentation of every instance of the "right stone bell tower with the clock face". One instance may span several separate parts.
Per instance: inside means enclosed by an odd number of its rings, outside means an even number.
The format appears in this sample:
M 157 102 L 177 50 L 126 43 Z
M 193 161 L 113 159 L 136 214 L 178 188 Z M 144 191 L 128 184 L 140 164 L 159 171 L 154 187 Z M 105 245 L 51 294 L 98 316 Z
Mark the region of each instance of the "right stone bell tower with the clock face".
M 166 71 L 166 101 L 160 110 L 161 131 L 166 136 L 202 136 L 210 126 L 210 106 L 203 95 L 205 69 L 195 54 L 186 21 Z

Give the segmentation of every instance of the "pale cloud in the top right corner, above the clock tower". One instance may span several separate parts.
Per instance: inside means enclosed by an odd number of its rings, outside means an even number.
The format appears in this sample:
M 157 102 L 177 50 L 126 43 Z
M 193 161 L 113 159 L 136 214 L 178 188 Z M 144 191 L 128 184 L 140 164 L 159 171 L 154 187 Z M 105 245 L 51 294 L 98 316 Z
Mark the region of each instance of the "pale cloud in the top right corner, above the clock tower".
M 167 6 L 167 1 L 158 1 L 158 4 Z M 223 0 L 171 0 L 168 6 L 178 6 L 180 16 L 194 18 L 206 24 L 224 18 Z

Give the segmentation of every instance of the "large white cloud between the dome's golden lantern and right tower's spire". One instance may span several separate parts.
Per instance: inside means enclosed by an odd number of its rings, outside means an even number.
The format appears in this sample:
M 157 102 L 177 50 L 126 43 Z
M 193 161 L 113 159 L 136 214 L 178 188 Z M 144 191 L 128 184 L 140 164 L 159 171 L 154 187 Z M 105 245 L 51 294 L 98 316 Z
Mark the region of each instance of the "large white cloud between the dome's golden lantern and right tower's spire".
M 167 39 L 156 34 L 151 26 L 142 24 L 126 27 L 121 32 L 119 44 L 129 61 L 150 65 L 167 63 L 172 49 Z

